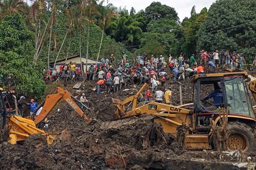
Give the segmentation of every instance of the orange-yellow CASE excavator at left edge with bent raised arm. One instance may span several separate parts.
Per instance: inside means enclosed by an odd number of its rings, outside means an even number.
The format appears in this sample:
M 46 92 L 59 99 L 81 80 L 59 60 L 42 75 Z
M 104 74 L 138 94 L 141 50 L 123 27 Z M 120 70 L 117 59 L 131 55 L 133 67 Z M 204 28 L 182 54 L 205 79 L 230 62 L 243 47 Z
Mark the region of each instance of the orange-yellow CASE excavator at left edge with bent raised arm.
M 82 116 L 83 119 L 86 121 L 91 121 L 91 119 L 89 119 L 85 113 L 83 113 L 77 103 L 75 103 L 74 100 L 76 99 L 74 99 L 74 97 L 72 97 L 69 92 L 61 89 L 61 87 L 57 87 L 56 94 L 49 94 L 46 96 L 45 102 L 43 102 L 43 104 L 36 110 L 38 111 L 42 107 L 38 116 L 35 115 L 35 111 L 32 116 L 27 118 L 22 118 L 22 116 L 19 115 L 15 95 L 12 95 L 11 92 L 2 91 L 1 88 L 0 123 L 2 124 L 2 129 L 6 128 L 9 130 L 9 143 L 17 144 L 17 142 L 24 142 L 25 140 L 35 136 L 35 134 L 41 134 L 41 136 L 45 136 L 45 142 L 47 142 L 48 145 L 53 144 L 57 138 L 66 139 L 69 136 L 68 131 L 48 133 L 36 127 L 37 124 L 39 124 L 46 118 L 46 116 L 49 115 L 51 110 L 61 99 L 64 99 L 70 105 L 70 107 L 72 107 L 80 116 Z M 77 102 L 79 101 L 77 100 Z M 83 104 L 80 103 L 80 105 Z M 85 105 L 83 106 L 86 107 Z M 38 137 L 38 139 L 40 139 L 40 137 Z M 44 142 L 41 141 L 43 139 L 40 139 L 39 144 Z

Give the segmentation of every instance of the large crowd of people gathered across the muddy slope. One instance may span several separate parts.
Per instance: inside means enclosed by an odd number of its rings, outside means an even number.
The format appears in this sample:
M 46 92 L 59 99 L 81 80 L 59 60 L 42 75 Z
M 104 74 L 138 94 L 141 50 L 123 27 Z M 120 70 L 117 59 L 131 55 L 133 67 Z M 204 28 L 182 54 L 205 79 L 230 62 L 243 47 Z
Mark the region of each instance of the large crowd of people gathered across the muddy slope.
M 122 59 L 117 62 L 116 57 L 111 56 L 101 59 L 101 64 L 90 65 L 83 73 L 83 65 L 70 62 L 61 64 L 59 70 L 46 71 L 46 80 L 67 79 L 80 80 L 84 77 L 87 80 L 95 81 L 96 94 L 104 89 L 108 92 L 118 92 L 125 89 L 127 84 L 148 83 L 151 89 L 145 93 L 145 100 L 155 99 L 157 102 L 169 103 L 171 89 L 166 88 L 166 80 L 173 77 L 173 83 L 185 81 L 195 74 L 214 73 L 216 68 L 245 68 L 243 54 L 224 51 L 219 52 L 201 51 L 200 54 L 190 57 L 180 55 L 179 57 L 168 58 L 160 55 L 148 57 L 145 52 L 129 61 L 127 55 L 122 55 Z M 167 60 L 166 60 L 167 59 Z M 256 57 L 254 65 L 256 65 Z M 164 95 L 166 93 L 166 95 Z M 155 95 L 152 95 L 155 94 Z M 171 99 L 170 99 L 171 100 Z

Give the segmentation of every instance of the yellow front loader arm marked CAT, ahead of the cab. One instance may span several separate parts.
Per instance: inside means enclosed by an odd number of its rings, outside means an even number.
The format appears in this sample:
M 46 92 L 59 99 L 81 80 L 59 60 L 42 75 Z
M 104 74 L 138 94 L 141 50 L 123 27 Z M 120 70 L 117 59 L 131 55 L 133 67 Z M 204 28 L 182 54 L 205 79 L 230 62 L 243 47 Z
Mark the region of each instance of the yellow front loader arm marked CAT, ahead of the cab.
M 155 116 L 155 123 L 162 124 L 164 132 L 174 135 L 177 133 L 177 126 L 181 126 L 181 124 L 186 124 L 187 126 L 192 127 L 192 112 L 186 108 L 157 102 L 150 102 L 137 107 L 137 98 L 147 87 L 148 84 L 144 84 L 137 94 L 132 95 L 125 100 L 112 99 L 112 102 L 116 106 L 116 118 L 128 118 L 130 116 L 139 116 L 143 114 L 152 115 Z

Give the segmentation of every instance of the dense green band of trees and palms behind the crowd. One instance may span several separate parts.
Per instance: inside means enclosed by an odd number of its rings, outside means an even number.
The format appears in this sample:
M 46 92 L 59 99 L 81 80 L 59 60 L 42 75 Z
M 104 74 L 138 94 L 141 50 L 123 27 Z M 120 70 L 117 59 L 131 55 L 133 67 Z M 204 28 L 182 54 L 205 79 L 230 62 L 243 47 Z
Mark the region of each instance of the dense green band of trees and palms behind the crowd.
M 0 74 L 12 75 L 24 93 L 40 96 L 44 86 L 38 68 L 77 53 L 96 60 L 143 52 L 189 57 L 202 49 L 239 51 L 252 60 L 256 53 L 254 0 L 218 0 L 199 13 L 194 6 L 182 21 L 173 7 L 160 2 L 139 12 L 95 0 L 30 4 L 0 0 Z

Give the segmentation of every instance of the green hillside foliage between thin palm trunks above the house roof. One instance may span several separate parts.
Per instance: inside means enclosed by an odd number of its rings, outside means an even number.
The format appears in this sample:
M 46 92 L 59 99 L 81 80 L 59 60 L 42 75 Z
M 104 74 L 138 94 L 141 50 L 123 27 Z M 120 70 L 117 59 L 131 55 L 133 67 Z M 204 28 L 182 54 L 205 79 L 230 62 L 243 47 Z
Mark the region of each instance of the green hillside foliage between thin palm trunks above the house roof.
M 67 31 L 66 26 L 66 15 L 65 14 L 59 14 L 57 18 L 57 22 L 55 23 L 53 27 L 53 33 L 56 34 L 56 37 L 58 39 L 58 49 L 61 46 L 62 40 L 64 39 L 64 36 Z M 100 41 L 101 41 L 101 28 L 96 25 L 92 25 L 90 27 L 90 37 L 89 37 L 89 51 L 88 51 L 88 57 L 92 59 L 96 59 L 98 54 L 98 49 L 100 47 Z M 59 55 L 59 59 L 65 59 L 67 55 L 67 50 L 69 47 L 70 42 L 70 49 L 69 49 L 69 56 L 72 54 L 79 54 L 79 34 L 80 30 L 77 28 L 72 29 L 72 31 L 67 36 L 66 41 L 64 42 L 64 46 L 62 47 L 61 53 Z M 45 40 L 47 43 L 49 41 L 49 36 L 46 35 L 48 39 Z M 82 55 L 85 57 L 86 51 L 87 51 L 87 30 L 82 31 Z M 126 52 L 127 55 L 130 55 L 130 52 L 127 51 L 127 49 L 124 47 L 124 44 L 116 42 L 114 39 L 111 39 L 109 36 L 106 36 L 104 34 L 103 36 L 103 44 L 101 47 L 100 52 L 100 59 L 102 57 L 108 57 L 111 54 L 117 55 L 117 57 L 122 56 L 122 52 Z M 58 54 L 58 51 L 54 51 L 54 43 L 51 44 L 51 51 L 50 51 L 50 61 L 54 61 L 56 59 L 56 56 Z M 41 51 L 40 59 L 43 61 L 43 63 L 47 63 L 47 57 L 48 57 L 48 44 L 43 47 L 43 50 Z M 46 65 L 45 65 L 46 66 Z

